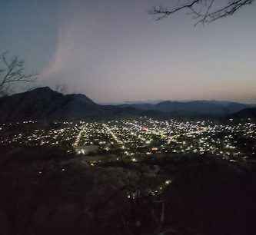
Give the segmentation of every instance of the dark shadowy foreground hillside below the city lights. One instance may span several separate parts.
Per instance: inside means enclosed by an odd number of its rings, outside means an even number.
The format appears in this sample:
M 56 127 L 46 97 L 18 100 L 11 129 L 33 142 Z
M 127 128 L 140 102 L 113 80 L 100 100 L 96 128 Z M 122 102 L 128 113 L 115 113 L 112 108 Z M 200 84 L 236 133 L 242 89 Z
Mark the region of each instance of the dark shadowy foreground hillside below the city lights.
M 57 147 L 1 151 L 1 234 L 255 234 L 254 162 L 168 155 L 91 167 Z

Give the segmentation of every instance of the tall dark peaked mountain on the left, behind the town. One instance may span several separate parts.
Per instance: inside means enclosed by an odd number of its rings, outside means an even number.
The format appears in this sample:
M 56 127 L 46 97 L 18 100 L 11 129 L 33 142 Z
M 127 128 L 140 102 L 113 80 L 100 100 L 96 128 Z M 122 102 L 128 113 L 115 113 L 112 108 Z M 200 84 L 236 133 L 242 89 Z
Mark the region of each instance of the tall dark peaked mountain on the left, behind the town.
M 48 87 L 0 99 L 0 122 L 104 119 L 139 114 L 141 111 L 135 108 L 95 104 L 84 94 L 64 95 Z

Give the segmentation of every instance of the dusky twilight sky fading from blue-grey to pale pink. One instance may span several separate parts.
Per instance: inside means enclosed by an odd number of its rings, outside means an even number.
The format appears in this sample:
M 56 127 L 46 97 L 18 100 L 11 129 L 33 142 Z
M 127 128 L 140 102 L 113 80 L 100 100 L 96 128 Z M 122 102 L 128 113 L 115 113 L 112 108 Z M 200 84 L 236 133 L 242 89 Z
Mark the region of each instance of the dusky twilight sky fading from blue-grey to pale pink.
M 221 1 L 221 0 L 219 0 Z M 256 103 L 256 4 L 194 28 L 172 0 L 0 0 L 0 53 L 99 103 L 215 99 Z

